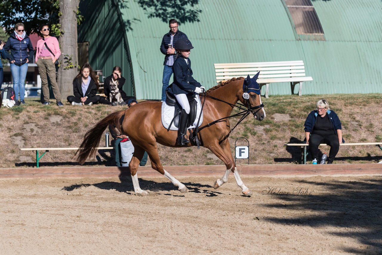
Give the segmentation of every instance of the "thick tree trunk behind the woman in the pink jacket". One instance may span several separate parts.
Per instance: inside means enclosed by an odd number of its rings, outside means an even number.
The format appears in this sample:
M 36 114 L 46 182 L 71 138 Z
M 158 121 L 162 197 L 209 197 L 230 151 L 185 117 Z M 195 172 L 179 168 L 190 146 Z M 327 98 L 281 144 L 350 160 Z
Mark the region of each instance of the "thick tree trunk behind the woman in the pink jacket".
M 73 79 L 78 74 L 77 47 L 77 8 L 79 0 L 60 0 L 60 25 L 62 35 L 59 38 L 61 56 L 59 58 L 58 84 L 62 99 L 73 95 Z

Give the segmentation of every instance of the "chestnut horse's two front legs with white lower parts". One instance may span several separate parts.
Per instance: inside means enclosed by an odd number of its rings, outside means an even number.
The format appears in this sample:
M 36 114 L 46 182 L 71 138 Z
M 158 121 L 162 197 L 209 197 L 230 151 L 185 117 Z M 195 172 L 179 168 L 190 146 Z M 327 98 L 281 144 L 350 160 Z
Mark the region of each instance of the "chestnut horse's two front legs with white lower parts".
M 231 154 L 230 143 L 228 142 L 228 140 L 223 141 L 223 143 L 221 143 L 220 145 L 219 143 L 217 143 L 215 146 L 212 146 L 209 149 L 218 158 L 220 158 L 224 162 L 225 166 L 227 167 L 227 170 L 225 171 L 225 174 L 223 175 L 223 177 L 215 181 L 214 188 L 217 189 L 220 186 L 222 186 L 225 182 L 227 182 L 228 175 L 230 175 L 230 171 L 232 171 L 236 180 L 236 184 L 238 185 L 238 187 L 241 188 L 241 192 L 246 196 L 252 195 L 252 191 L 249 190 L 249 188 L 246 185 L 244 185 L 243 181 L 240 178 L 239 172 L 237 171 L 237 168 L 236 168 L 235 161 Z

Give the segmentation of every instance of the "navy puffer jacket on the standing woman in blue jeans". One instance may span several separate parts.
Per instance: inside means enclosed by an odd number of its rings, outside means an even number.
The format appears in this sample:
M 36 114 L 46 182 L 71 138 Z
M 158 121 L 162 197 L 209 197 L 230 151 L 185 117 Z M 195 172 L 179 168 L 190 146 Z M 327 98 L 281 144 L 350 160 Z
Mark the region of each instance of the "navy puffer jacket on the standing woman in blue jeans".
M 6 58 L 9 62 L 15 60 L 15 65 L 25 64 L 27 58 L 29 63 L 33 63 L 34 49 L 32 42 L 27 35 L 22 41 L 19 41 L 15 34 L 11 34 L 4 45 L 4 50 L 6 52 Z M 9 54 L 9 50 L 11 50 L 11 54 Z

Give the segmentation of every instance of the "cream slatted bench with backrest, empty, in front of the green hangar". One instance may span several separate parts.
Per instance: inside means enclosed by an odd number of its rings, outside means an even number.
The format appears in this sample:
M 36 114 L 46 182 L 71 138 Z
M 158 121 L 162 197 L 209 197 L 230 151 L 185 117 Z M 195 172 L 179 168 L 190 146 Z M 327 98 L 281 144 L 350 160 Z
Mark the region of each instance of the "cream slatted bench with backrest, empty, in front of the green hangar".
M 312 81 L 313 78 L 305 76 L 305 67 L 303 60 L 297 61 L 278 61 L 278 62 L 253 62 L 253 63 L 222 63 L 214 64 L 216 82 L 230 80 L 247 75 L 253 77 L 260 71 L 257 83 L 260 89 L 265 85 L 265 97 L 268 98 L 269 83 L 289 82 L 292 94 L 295 91 L 295 85 L 299 83 L 298 95 L 301 96 L 303 81 Z

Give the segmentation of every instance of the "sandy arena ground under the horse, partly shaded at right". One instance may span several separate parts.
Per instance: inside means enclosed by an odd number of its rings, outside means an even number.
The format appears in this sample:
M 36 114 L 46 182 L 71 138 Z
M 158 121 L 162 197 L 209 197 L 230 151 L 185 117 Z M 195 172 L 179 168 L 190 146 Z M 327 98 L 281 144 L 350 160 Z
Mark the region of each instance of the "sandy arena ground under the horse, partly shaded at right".
M 382 176 L 0 180 L 2 254 L 382 252 Z

